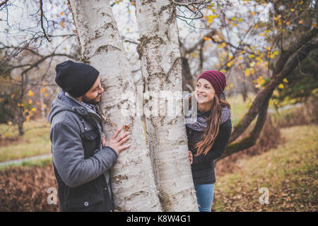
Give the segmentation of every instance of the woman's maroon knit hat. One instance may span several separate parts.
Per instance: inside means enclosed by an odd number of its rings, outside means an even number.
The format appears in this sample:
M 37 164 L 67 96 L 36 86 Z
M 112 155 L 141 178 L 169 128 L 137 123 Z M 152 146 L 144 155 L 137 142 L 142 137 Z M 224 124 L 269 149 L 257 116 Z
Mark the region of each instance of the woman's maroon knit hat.
M 213 89 L 216 90 L 216 95 L 220 97 L 226 86 L 226 78 L 224 73 L 220 71 L 204 71 L 204 73 L 201 73 L 201 76 L 199 76 L 198 80 L 200 78 L 204 78 L 211 83 Z

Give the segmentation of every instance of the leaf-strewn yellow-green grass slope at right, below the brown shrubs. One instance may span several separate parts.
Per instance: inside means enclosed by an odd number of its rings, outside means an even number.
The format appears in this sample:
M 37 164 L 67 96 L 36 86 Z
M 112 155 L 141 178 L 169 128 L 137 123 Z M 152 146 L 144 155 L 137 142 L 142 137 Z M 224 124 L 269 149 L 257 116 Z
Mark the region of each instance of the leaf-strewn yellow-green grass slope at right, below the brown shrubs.
M 317 211 L 318 126 L 281 129 L 284 143 L 243 160 L 233 174 L 217 177 L 216 211 Z M 259 203 L 261 187 L 269 204 Z

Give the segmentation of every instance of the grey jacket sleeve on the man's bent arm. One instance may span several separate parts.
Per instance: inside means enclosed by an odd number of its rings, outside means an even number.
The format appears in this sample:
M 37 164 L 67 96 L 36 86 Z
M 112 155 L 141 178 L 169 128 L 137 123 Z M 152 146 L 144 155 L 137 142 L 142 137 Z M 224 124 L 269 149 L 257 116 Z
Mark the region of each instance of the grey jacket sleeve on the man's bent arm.
M 117 153 L 108 146 L 84 159 L 79 131 L 64 121 L 52 126 L 50 138 L 54 165 L 67 186 L 86 184 L 106 172 L 117 161 Z

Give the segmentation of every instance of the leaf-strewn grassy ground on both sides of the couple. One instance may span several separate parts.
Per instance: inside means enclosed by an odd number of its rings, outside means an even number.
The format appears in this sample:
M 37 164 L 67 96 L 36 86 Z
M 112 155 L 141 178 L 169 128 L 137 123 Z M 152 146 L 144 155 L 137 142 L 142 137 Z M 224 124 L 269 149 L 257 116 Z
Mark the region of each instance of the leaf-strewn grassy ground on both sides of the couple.
M 250 101 L 230 102 L 234 126 Z M 216 162 L 213 211 L 318 210 L 318 104 L 303 106 L 269 114 L 253 147 Z M 47 202 L 49 189 L 57 189 L 51 156 L 4 163 L 51 153 L 46 119 L 25 122 L 23 136 L 15 126 L 0 124 L 0 135 L 0 212 L 58 211 L 58 198 L 56 204 Z

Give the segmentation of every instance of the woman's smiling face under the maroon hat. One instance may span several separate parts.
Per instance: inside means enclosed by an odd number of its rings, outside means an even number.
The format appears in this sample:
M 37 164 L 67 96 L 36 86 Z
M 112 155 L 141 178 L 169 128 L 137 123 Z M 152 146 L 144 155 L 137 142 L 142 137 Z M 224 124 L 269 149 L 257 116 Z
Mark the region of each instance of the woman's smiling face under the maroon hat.
M 200 78 L 196 83 L 195 97 L 198 104 L 208 104 L 213 101 L 216 90 L 206 79 Z

